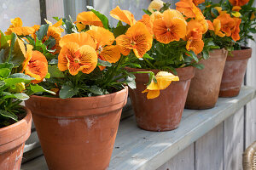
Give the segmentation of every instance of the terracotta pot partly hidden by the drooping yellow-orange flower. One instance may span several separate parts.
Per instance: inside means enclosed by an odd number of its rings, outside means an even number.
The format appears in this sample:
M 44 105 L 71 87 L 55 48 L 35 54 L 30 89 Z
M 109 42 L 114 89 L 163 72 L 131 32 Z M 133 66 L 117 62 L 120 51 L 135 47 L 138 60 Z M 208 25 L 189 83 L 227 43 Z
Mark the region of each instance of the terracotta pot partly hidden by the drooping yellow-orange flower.
M 131 69 L 128 71 L 148 71 L 143 69 Z M 155 74 L 156 70 L 151 70 Z M 189 90 L 189 84 L 194 77 L 195 68 L 189 66 L 177 69 L 179 82 L 160 91 L 160 96 L 155 99 L 147 99 L 147 94 L 142 94 L 148 82 L 147 74 L 136 74 L 137 88 L 129 88 L 131 104 L 135 112 L 137 126 L 149 131 L 168 131 L 178 127 L 181 121 L 185 100 Z

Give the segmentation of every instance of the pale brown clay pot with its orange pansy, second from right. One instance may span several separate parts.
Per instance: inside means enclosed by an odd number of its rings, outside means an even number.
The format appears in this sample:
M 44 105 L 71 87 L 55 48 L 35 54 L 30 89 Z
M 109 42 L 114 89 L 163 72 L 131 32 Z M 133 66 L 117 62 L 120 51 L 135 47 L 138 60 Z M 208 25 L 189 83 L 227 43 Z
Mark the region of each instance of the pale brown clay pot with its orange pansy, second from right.
M 193 14 L 193 10 L 183 8 L 183 2 L 177 3 L 177 9 L 183 9 L 184 13 Z M 188 3 L 193 8 L 198 8 L 195 3 Z M 230 14 L 220 11 L 218 4 L 211 1 L 199 4 L 207 18 L 208 31 L 204 40 L 212 39 L 215 48 L 210 51 L 209 59 L 202 59 L 201 64 L 205 68 L 201 71 L 195 71 L 195 77 L 189 88 L 189 94 L 185 107 L 188 109 L 210 109 L 214 107 L 218 100 L 220 83 L 224 71 L 224 64 L 228 54 L 233 48 L 233 42 L 237 40 L 239 30 L 239 20 Z M 185 10 L 188 9 L 188 10 Z M 219 11 L 219 12 L 218 12 Z M 213 46 L 213 47 L 214 47 Z M 203 52 L 202 55 L 205 53 Z

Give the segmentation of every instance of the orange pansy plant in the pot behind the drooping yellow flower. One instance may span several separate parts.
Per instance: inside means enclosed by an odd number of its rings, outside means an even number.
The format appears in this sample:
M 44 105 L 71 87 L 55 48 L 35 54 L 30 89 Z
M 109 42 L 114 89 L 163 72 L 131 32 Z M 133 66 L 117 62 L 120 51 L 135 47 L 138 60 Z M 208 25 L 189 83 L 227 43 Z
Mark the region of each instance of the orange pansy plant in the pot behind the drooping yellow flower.
M 189 2 L 189 1 L 188 1 Z M 177 3 L 183 6 L 183 1 Z M 153 37 L 152 48 L 141 56 L 137 64 L 143 69 L 159 69 L 172 71 L 185 66 L 195 66 L 199 61 L 197 54 L 203 50 L 208 50 L 212 44 L 203 41 L 203 36 L 208 30 L 207 20 L 205 20 L 201 10 L 195 7 L 193 14 L 183 13 L 183 8 L 171 9 L 169 3 L 154 0 L 144 9 L 142 22 L 147 26 L 151 37 Z M 115 17 L 114 17 L 115 18 Z M 120 20 L 119 18 L 116 18 Z M 121 20 L 124 21 L 125 20 Z M 210 42 L 210 41 L 209 41 Z

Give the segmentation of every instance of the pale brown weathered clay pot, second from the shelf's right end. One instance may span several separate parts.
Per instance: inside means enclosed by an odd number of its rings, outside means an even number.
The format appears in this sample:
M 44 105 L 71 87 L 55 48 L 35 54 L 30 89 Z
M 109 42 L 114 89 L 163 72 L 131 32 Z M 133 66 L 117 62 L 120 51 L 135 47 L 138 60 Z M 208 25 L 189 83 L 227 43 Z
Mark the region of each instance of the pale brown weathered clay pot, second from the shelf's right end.
M 201 59 L 199 63 L 205 68 L 195 70 L 185 108 L 210 109 L 215 106 L 227 54 L 224 48 L 214 49 L 209 59 Z

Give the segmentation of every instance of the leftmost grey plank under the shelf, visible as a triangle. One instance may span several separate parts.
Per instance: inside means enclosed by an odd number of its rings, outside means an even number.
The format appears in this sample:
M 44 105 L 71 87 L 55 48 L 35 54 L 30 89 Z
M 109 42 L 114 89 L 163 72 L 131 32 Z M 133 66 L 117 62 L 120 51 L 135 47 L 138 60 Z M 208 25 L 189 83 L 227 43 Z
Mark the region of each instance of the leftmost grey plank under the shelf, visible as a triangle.
M 194 170 L 194 167 L 194 144 L 190 144 L 157 170 Z

